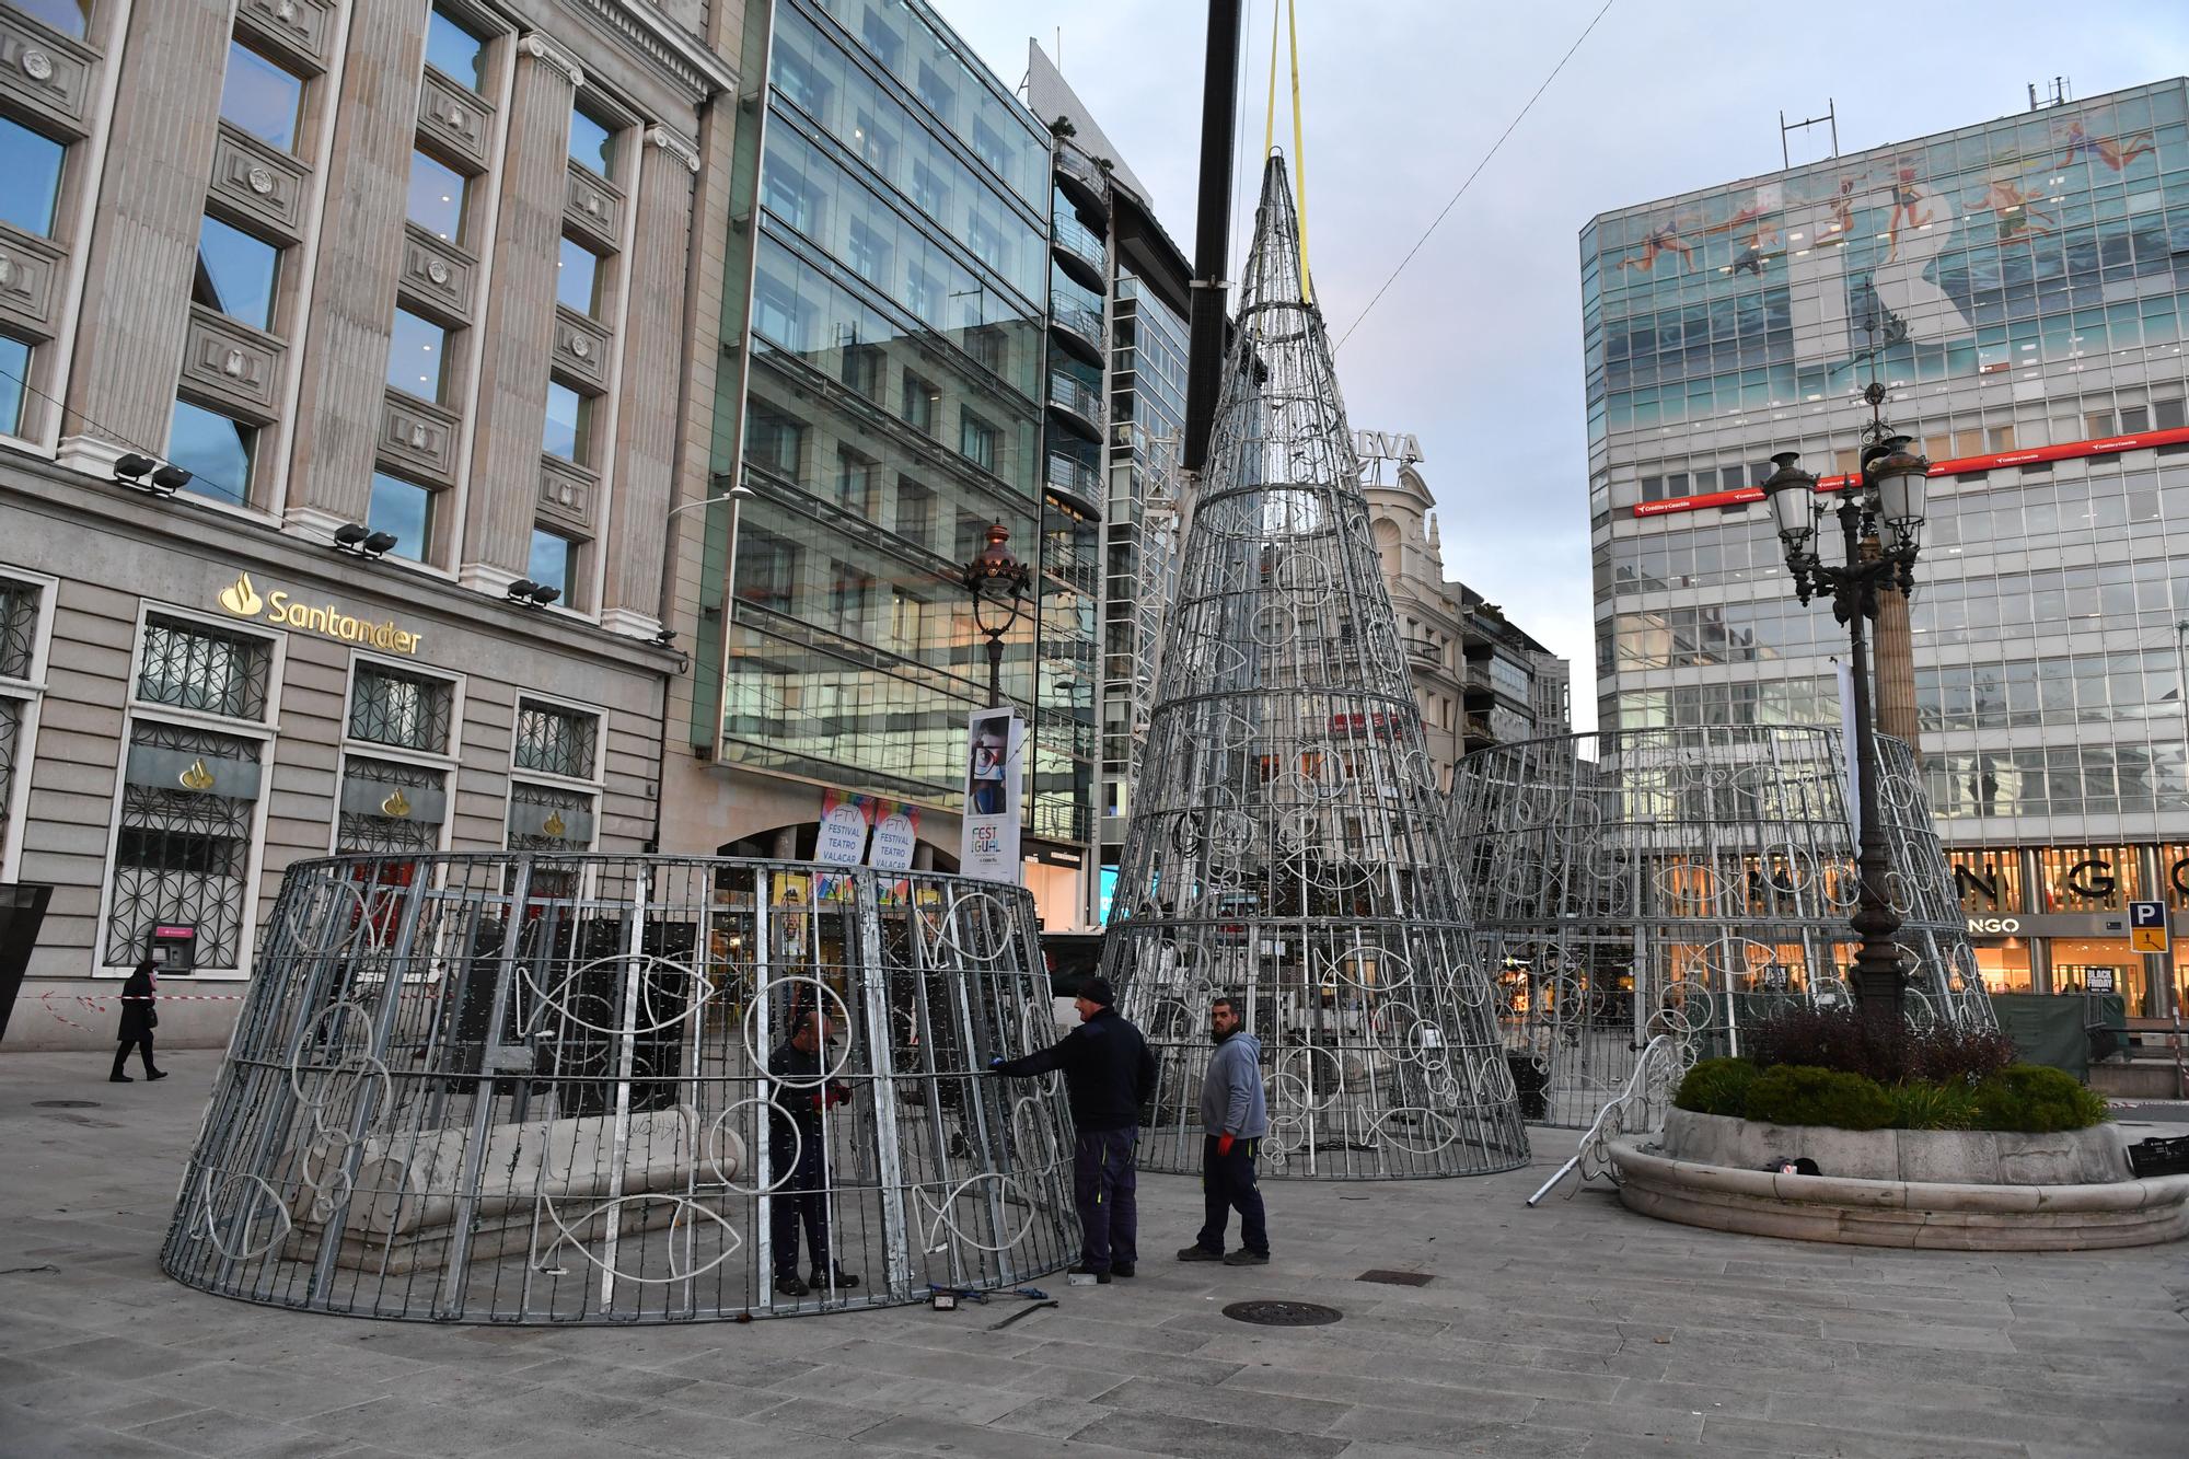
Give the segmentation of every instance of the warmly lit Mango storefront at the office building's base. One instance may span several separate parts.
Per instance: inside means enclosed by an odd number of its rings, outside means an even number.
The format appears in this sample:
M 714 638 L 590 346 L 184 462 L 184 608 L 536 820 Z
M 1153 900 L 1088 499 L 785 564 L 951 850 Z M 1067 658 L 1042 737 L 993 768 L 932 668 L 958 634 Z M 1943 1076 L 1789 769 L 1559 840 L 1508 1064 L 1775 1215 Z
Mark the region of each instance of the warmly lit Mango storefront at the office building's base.
M 2110 981 L 2130 1019 L 2189 1012 L 2189 846 L 1968 848 L 1946 859 L 1992 992 Z M 2130 949 L 2132 900 L 2165 903 L 2169 953 Z

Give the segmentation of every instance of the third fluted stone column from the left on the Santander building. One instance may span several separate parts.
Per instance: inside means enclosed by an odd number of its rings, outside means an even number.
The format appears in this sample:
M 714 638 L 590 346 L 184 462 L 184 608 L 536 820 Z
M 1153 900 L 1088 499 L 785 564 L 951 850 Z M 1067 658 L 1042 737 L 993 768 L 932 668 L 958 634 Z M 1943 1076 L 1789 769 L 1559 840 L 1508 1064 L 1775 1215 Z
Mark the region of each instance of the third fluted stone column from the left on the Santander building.
M 569 195 L 569 110 L 578 64 L 545 37 L 517 42 L 517 90 L 501 162 L 501 210 L 488 283 L 479 403 L 462 581 L 499 591 L 521 578 L 538 504 L 547 359 L 554 355 L 554 274 Z

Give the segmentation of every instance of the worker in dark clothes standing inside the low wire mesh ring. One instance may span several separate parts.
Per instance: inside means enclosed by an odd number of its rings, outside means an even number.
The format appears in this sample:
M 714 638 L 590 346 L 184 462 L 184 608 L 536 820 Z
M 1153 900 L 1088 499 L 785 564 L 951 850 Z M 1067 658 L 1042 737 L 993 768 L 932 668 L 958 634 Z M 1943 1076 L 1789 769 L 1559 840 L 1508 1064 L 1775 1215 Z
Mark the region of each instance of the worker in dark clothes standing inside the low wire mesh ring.
M 775 1290 L 784 1297 L 847 1290 L 858 1277 L 830 1260 L 827 1251 L 827 1124 L 823 1111 L 852 1098 L 852 1087 L 830 1080 L 825 1045 L 827 1016 L 812 1003 L 790 1014 L 790 1038 L 768 1056 L 777 1082 L 768 1122 L 768 1174 L 775 1181 L 768 1207 L 768 1247 L 775 1257 Z M 799 1279 L 799 1227 L 812 1273 Z

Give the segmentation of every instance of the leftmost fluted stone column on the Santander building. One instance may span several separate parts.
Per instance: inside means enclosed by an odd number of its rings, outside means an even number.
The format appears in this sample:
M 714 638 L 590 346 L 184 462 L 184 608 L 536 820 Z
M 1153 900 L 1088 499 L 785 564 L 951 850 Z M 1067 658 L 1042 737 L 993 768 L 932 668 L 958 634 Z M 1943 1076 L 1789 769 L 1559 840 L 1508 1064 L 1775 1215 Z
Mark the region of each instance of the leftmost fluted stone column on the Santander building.
M 160 451 L 175 412 L 190 278 L 219 134 L 230 0 L 138 4 L 92 215 L 83 313 L 68 377 L 63 460 Z M 88 166 L 77 147 L 70 166 Z

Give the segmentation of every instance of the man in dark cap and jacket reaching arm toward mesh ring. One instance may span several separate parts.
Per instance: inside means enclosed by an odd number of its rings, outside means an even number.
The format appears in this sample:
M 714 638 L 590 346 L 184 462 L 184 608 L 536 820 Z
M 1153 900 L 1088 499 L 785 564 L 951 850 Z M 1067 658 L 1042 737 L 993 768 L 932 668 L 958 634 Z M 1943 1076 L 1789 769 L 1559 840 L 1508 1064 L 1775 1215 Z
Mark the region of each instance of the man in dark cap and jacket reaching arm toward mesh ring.
M 1073 1275 L 1130 1277 L 1140 1260 L 1136 1148 L 1140 1106 L 1156 1095 L 1156 1056 L 1114 1008 L 1108 979 L 1079 984 L 1079 1027 L 1024 1058 L 992 1058 L 989 1073 L 1035 1078 L 1064 1071 L 1073 1106 L 1073 1205 L 1079 1207 L 1079 1264 Z

